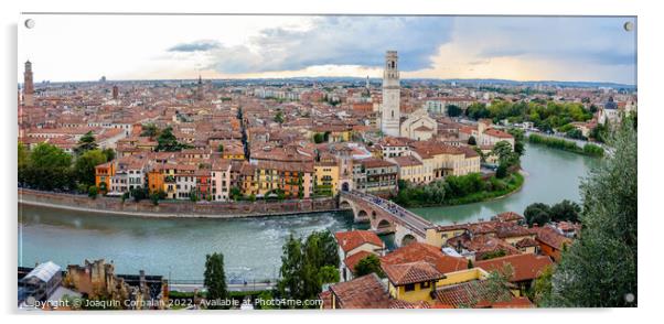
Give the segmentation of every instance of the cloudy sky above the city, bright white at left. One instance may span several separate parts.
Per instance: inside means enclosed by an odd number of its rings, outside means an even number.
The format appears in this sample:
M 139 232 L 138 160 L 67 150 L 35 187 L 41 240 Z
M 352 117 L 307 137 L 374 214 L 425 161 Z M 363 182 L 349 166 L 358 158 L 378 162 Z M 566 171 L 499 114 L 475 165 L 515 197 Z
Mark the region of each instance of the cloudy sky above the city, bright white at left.
M 635 83 L 631 18 L 33 15 L 35 80 L 401 77 Z

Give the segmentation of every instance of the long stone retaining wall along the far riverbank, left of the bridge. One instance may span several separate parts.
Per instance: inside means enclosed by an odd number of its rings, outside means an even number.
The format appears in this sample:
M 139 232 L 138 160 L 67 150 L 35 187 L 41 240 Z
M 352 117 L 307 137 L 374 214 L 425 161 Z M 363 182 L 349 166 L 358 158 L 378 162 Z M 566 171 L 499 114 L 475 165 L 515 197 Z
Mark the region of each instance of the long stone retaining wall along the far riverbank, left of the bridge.
M 62 194 L 19 188 L 19 203 L 90 213 L 121 214 L 143 217 L 247 217 L 288 215 L 338 210 L 336 198 L 293 199 L 282 202 L 233 202 L 213 203 L 189 201 L 160 201 L 153 205 L 149 199 L 139 203 L 120 198 Z

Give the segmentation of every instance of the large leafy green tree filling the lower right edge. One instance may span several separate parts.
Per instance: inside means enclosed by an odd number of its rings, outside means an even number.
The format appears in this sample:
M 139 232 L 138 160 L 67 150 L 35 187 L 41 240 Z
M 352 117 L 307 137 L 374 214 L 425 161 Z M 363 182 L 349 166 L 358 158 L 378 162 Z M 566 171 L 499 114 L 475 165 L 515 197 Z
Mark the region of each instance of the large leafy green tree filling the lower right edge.
M 609 140 L 613 153 L 581 183 L 583 229 L 554 273 L 553 306 L 638 306 L 636 138 L 623 120 Z

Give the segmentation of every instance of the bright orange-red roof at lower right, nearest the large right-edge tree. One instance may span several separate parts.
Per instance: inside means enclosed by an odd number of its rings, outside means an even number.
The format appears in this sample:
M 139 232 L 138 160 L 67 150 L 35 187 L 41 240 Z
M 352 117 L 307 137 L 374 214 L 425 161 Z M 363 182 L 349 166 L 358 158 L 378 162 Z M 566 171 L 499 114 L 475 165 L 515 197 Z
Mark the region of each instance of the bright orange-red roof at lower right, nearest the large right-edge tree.
M 505 264 L 511 264 L 514 273 L 512 273 L 510 281 L 517 282 L 536 279 L 546 267 L 553 263 L 547 256 L 524 253 L 476 261 L 475 267 L 485 271 L 501 271 Z

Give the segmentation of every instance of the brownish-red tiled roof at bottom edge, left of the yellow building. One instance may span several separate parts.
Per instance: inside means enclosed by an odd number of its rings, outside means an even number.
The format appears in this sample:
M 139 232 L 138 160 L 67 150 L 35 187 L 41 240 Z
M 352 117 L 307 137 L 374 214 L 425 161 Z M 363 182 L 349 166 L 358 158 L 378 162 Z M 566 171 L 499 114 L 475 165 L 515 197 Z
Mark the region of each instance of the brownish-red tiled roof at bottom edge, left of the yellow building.
M 387 309 L 389 294 L 376 273 L 330 287 L 339 309 Z

